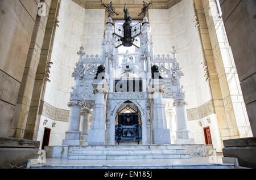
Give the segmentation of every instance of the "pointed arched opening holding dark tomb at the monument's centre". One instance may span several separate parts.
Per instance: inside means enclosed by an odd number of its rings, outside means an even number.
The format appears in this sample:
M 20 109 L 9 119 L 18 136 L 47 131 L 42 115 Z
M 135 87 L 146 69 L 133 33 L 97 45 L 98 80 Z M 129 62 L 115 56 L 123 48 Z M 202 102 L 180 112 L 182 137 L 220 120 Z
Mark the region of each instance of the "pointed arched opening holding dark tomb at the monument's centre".
M 137 105 L 125 101 L 115 115 L 115 141 L 119 144 L 141 142 L 142 117 Z

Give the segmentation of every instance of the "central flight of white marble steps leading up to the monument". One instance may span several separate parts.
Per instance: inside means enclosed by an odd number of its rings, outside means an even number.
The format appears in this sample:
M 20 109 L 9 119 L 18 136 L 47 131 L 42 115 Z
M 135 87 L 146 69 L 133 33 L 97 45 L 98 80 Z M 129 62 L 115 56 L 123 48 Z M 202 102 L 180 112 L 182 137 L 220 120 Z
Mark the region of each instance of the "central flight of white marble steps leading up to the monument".
M 72 146 L 69 160 L 133 160 L 191 158 L 180 145 L 106 145 Z

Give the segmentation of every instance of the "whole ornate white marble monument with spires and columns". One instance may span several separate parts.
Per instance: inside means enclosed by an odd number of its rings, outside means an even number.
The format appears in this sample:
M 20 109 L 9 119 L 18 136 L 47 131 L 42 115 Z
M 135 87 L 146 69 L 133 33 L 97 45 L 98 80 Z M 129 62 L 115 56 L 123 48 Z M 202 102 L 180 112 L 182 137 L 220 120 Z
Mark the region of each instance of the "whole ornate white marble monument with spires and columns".
M 135 46 L 140 51 L 118 53 L 121 43 L 118 36 L 122 36 L 122 32 L 116 32 L 117 27 L 120 25 L 109 17 L 100 56 L 85 55 L 82 47 L 78 52 L 80 58 L 72 75 L 76 85 L 68 104 L 71 108 L 69 128 L 63 145 L 127 144 L 133 135 L 138 144 L 193 144 L 185 93 L 180 84 L 183 73 L 175 48 L 172 47 L 172 55 L 154 55 L 150 23 L 144 18 L 142 24 L 136 25 L 137 34 L 131 33 L 136 36 Z M 119 57 L 123 58 L 122 67 L 117 65 Z M 138 59 L 136 65 L 135 59 Z M 100 65 L 105 67 L 101 76 L 96 75 Z M 151 73 L 154 65 L 156 76 Z M 170 115 L 170 109 L 175 113 Z M 120 114 L 126 117 L 126 124 L 122 126 Z M 135 123 L 130 122 L 130 115 L 134 115 Z M 127 127 L 136 128 L 133 132 Z

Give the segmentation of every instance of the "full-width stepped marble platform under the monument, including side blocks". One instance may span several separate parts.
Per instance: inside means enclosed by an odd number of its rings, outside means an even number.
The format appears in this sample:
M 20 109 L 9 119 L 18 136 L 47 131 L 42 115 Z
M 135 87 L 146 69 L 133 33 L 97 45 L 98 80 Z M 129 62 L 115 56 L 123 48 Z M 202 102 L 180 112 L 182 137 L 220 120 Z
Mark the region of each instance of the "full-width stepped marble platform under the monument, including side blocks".
M 207 157 L 212 145 L 71 145 L 44 148 L 48 158 L 129 160 Z

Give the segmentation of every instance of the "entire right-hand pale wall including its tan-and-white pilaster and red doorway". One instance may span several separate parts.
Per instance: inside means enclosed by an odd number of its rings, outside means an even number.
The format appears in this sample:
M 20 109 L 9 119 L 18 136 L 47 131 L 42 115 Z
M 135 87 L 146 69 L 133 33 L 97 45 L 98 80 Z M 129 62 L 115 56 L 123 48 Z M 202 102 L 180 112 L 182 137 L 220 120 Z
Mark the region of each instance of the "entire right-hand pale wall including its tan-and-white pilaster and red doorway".
M 168 10 L 149 10 L 149 20 L 155 55 L 170 54 L 173 45 L 179 51 L 177 58 L 184 72 L 181 84 L 195 143 L 205 143 L 203 128 L 209 126 L 213 146 L 221 151 L 222 140 L 250 136 L 251 128 L 222 19 L 213 16 L 216 6 L 215 1 L 183 0 Z

